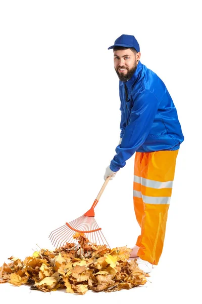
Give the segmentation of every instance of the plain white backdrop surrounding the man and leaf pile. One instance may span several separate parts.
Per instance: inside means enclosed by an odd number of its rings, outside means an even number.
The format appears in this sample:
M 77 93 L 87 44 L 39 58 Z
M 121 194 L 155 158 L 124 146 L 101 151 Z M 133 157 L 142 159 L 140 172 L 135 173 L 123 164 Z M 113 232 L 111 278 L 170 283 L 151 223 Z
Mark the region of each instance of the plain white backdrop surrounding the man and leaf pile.
M 164 81 L 185 137 L 164 250 L 147 288 L 87 292 L 85 301 L 177 302 L 197 296 L 201 271 L 201 17 L 198 1 L 0 2 L 0 265 L 23 259 L 86 212 L 120 137 L 113 50 L 134 35 L 140 61 Z M 134 155 L 135 156 L 135 155 Z M 110 180 L 95 219 L 110 247 L 134 246 L 134 156 Z M 11 292 L 12 291 L 12 292 Z M 1 284 L 1 298 L 80 300 Z M 99 298 L 98 298 L 99 296 Z M 70 298 L 71 297 L 71 298 Z M 91 298 L 90 298 L 91 297 Z M 101 298 L 103 297 L 103 298 Z M 198 301 L 195 300 L 197 303 Z

